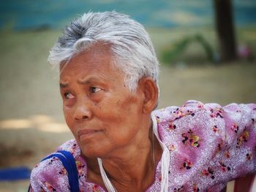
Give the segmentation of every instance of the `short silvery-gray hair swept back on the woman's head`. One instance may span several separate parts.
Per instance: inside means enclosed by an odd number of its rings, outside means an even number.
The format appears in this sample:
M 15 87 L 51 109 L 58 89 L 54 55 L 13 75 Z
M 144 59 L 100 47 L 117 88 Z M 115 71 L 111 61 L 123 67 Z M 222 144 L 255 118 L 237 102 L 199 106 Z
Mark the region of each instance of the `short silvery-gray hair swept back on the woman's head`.
M 140 23 L 118 12 L 88 12 L 75 19 L 50 50 L 48 61 L 53 66 L 68 63 L 97 42 L 110 44 L 130 91 L 135 91 L 142 77 L 158 83 L 159 63 L 148 33 Z

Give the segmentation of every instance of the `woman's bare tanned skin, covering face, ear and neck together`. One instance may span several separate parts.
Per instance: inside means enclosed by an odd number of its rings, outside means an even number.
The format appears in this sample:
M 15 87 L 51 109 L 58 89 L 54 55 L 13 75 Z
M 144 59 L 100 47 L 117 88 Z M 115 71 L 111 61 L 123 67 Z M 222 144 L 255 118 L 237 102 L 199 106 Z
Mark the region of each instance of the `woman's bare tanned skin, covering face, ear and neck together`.
M 89 166 L 88 180 L 104 186 L 97 164 L 102 158 L 118 191 L 145 191 L 154 181 L 153 158 L 159 161 L 162 153 L 154 138 L 152 156 L 154 80 L 143 77 L 129 91 L 109 47 L 94 45 L 61 64 L 60 88 L 65 120 Z

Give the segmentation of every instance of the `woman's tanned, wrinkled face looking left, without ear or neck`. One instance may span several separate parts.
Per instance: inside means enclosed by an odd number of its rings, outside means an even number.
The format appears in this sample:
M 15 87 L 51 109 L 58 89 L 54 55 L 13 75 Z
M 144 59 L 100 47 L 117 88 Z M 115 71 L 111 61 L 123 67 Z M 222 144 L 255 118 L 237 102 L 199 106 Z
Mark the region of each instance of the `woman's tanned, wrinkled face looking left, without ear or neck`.
M 61 65 L 60 90 L 67 125 L 87 157 L 108 157 L 138 138 L 143 93 L 130 93 L 108 47 Z

